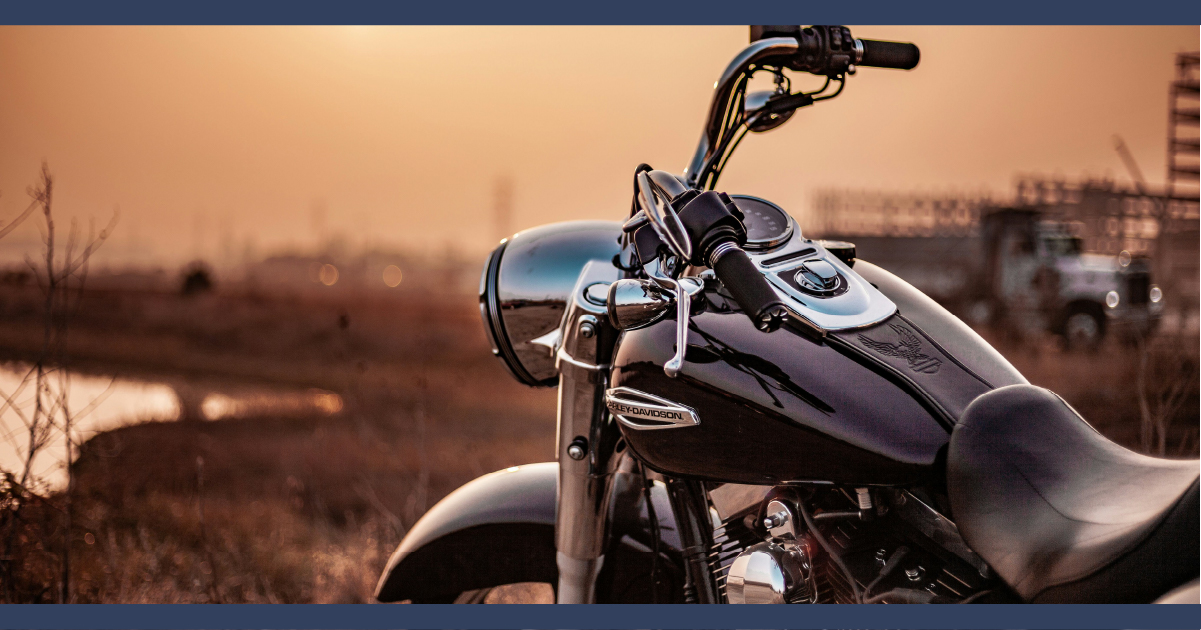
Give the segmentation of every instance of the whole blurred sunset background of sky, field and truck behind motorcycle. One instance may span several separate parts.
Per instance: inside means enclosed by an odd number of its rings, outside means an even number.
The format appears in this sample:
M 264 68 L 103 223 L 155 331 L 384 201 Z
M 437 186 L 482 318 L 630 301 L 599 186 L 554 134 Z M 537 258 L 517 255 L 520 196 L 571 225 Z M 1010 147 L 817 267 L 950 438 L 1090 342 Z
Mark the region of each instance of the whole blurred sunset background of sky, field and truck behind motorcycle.
M 749 138 L 721 188 L 1195 457 L 1197 29 L 852 30 L 921 65 Z M 488 252 L 623 218 L 746 43 L 0 26 L 0 600 L 370 600 L 438 498 L 554 457 L 555 392 L 478 319 Z

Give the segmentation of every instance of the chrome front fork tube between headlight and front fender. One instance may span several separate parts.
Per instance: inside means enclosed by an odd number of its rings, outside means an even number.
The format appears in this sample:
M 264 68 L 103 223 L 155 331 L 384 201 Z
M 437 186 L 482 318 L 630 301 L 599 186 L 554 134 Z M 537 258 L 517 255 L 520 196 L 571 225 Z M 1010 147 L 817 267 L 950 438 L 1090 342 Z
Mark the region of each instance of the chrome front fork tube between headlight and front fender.
M 614 282 L 611 264 L 590 263 L 580 274 L 563 314 L 558 364 L 558 503 L 555 547 L 558 604 L 593 604 L 604 565 L 609 502 L 619 431 L 604 406 L 609 358 L 616 330 L 605 307 L 588 301 L 584 289 Z

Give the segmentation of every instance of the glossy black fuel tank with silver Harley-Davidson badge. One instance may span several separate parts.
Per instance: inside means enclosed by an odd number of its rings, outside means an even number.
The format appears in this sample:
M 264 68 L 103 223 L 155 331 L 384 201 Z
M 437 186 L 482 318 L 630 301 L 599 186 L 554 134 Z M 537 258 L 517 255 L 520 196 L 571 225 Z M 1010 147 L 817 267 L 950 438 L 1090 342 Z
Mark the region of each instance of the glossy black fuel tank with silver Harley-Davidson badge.
M 706 287 L 676 378 L 663 372 L 675 318 L 622 332 L 610 391 L 686 420 L 620 421 L 629 448 L 659 472 L 715 481 L 927 480 L 967 404 L 1024 379 L 904 281 L 861 262 L 855 271 L 897 305 L 894 316 L 825 337 L 761 332 Z

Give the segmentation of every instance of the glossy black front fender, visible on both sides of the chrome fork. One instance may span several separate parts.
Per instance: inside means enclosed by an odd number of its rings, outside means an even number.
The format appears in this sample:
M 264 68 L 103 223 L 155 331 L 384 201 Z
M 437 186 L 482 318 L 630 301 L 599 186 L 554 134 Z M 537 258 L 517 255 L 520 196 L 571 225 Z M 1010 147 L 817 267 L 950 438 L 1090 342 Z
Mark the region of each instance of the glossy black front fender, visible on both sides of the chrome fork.
M 597 576 L 597 601 L 682 602 L 680 536 L 663 484 L 656 481 L 651 491 L 656 545 L 641 475 L 622 470 L 613 482 L 613 529 Z M 507 468 L 452 492 L 400 541 L 380 577 L 376 599 L 437 604 L 466 590 L 516 582 L 557 586 L 557 484 L 558 464 L 549 462 Z

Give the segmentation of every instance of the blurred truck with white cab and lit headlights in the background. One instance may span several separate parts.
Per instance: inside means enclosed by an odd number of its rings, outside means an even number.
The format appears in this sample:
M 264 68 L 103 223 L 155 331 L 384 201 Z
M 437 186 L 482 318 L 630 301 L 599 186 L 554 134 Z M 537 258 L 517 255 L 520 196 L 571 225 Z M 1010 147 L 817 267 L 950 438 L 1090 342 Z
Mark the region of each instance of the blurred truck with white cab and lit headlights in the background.
M 1149 258 L 1088 253 L 1082 228 L 1034 208 L 986 208 L 962 234 L 824 238 L 853 242 L 856 258 L 906 278 L 969 324 L 1018 338 L 1050 332 L 1072 350 L 1095 349 L 1107 336 L 1149 335 L 1164 298 Z

